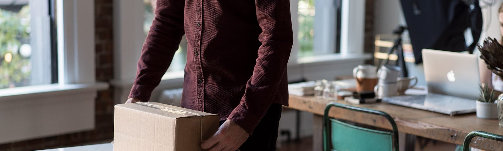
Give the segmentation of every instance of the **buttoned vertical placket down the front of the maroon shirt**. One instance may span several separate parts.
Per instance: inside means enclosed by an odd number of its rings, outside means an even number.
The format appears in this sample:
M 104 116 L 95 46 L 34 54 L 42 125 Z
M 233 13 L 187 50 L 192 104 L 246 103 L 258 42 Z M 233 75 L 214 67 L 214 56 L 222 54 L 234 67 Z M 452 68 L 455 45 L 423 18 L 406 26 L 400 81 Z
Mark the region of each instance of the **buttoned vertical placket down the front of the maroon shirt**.
M 201 30 L 203 24 L 203 0 L 197 1 L 196 10 L 196 32 L 195 32 L 195 50 L 194 57 L 197 73 L 197 104 L 200 111 L 204 112 L 204 76 L 201 61 Z

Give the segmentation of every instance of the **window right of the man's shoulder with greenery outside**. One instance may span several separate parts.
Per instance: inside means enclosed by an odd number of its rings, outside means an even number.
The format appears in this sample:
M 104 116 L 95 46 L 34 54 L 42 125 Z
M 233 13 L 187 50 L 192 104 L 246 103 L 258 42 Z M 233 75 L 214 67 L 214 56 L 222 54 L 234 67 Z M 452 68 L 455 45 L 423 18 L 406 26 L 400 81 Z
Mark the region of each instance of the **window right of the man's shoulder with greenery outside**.
M 298 0 L 298 57 L 341 51 L 341 4 L 341 0 Z

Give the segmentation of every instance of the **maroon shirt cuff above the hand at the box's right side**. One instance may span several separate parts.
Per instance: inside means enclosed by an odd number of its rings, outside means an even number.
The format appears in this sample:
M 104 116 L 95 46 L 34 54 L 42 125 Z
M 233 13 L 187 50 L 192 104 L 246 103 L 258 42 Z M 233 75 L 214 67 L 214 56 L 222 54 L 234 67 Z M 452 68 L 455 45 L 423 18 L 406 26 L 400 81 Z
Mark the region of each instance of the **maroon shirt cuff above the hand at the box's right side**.
M 251 114 L 246 108 L 242 107 L 241 105 L 238 105 L 236 108 L 234 108 L 227 119 L 239 125 L 239 127 L 248 132 L 249 135 L 253 134 L 253 130 L 255 129 L 255 127 L 257 127 L 257 125 L 259 125 L 259 122 L 261 120 L 261 118 Z

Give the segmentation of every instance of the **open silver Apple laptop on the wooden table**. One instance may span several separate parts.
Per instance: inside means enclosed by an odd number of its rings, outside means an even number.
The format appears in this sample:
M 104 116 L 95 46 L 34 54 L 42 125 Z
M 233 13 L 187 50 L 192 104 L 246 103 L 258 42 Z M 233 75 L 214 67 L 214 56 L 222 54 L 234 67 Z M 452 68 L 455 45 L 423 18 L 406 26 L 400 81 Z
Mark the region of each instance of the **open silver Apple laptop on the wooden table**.
M 473 113 L 480 74 L 477 56 L 423 49 L 427 95 L 394 96 L 382 101 L 448 115 Z

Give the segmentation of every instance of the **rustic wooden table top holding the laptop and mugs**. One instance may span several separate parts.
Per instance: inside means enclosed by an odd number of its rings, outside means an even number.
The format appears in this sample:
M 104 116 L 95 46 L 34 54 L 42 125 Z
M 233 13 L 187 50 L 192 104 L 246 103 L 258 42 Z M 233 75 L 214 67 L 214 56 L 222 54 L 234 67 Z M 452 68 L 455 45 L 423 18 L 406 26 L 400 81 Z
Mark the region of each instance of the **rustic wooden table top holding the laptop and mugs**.
M 445 114 L 388 104 L 350 104 L 342 100 L 326 101 L 312 96 L 289 96 L 291 109 L 323 115 L 325 105 L 330 102 L 347 104 L 355 107 L 379 110 L 388 113 L 395 120 L 398 131 L 435 140 L 462 144 L 465 136 L 474 130 L 503 134 L 503 128 L 498 126 L 497 119 L 480 119 L 475 113 L 449 116 Z M 340 108 L 331 108 L 330 117 L 354 121 L 385 129 L 391 129 L 389 122 L 377 115 L 354 112 Z M 470 146 L 485 150 L 503 150 L 503 142 L 475 137 Z

